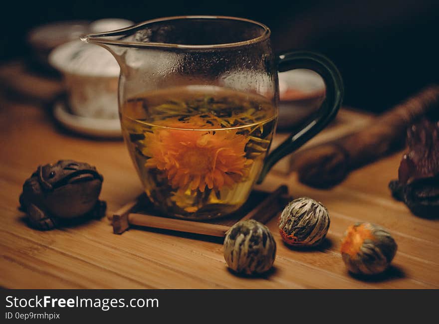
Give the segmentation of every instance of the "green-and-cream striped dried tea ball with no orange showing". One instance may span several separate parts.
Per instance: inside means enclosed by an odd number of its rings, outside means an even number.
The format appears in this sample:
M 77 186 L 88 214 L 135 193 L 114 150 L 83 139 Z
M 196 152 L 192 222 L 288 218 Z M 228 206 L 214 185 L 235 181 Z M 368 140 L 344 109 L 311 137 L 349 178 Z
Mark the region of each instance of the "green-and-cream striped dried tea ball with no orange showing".
M 276 242 L 269 229 L 254 219 L 234 224 L 224 239 L 227 266 L 247 275 L 268 271 L 276 256 Z

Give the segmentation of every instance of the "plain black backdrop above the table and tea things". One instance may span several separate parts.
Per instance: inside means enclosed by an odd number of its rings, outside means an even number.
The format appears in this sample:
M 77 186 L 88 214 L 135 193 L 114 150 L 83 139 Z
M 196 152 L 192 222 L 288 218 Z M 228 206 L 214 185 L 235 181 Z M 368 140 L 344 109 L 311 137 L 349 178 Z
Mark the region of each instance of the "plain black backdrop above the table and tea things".
M 3 1 L 0 60 L 28 54 L 27 31 L 66 19 L 150 18 L 184 14 L 250 18 L 272 29 L 276 52 L 319 51 L 339 67 L 345 105 L 383 111 L 438 82 L 438 0 L 369 1 Z

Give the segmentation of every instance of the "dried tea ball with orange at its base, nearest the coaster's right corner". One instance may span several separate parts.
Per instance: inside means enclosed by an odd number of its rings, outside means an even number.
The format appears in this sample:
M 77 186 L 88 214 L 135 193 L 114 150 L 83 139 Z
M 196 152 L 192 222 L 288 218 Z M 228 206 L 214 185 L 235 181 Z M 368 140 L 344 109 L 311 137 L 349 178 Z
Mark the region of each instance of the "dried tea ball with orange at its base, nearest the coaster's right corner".
M 308 197 L 297 198 L 283 209 L 279 218 L 282 240 L 293 246 L 315 246 L 328 233 L 329 214 L 325 206 Z

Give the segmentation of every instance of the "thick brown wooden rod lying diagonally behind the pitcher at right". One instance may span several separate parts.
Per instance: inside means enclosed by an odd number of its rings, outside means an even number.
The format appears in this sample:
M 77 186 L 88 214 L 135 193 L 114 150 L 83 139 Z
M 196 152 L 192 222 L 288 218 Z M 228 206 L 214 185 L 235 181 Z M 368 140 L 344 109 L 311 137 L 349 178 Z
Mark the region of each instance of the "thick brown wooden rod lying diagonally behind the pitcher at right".
M 302 151 L 295 161 L 299 181 L 318 188 L 341 182 L 351 170 L 403 148 L 407 127 L 426 116 L 439 119 L 439 85 L 423 89 L 356 133 Z

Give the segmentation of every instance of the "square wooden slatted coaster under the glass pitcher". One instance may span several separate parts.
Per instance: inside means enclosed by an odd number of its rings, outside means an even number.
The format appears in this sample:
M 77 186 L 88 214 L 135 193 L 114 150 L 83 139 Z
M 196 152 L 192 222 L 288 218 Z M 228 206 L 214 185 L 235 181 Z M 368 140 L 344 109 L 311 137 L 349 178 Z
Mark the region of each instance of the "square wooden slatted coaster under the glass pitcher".
M 234 213 L 218 219 L 176 219 L 157 211 L 145 194 L 138 196 L 117 210 L 108 219 L 115 234 L 122 234 L 129 227 L 142 226 L 176 232 L 224 237 L 231 226 L 241 220 L 254 219 L 263 224 L 282 211 L 290 197 L 288 187 L 279 186 L 273 192 L 253 190 L 244 205 Z

